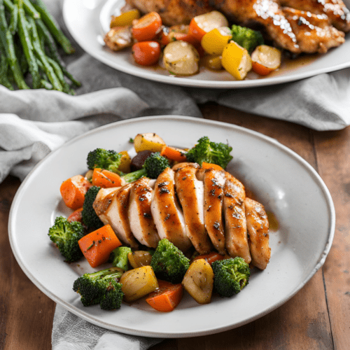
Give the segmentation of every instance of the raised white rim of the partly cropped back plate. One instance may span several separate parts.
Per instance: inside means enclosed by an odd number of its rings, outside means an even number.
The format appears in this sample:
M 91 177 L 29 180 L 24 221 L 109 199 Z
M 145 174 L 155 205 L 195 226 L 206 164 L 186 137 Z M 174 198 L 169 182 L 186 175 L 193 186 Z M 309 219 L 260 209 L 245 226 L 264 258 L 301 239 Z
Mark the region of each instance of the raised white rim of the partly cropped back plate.
M 109 1 L 120 1 L 120 0 L 99 0 L 104 1 L 105 3 Z M 102 62 L 106 64 L 107 66 L 110 66 L 113 69 L 116 69 L 118 71 L 122 71 L 123 73 L 128 73 L 132 76 L 137 76 L 139 78 L 144 78 L 146 80 L 155 81 L 158 83 L 166 83 L 169 85 L 176 85 L 176 86 L 183 86 L 183 87 L 198 87 L 198 88 L 215 88 L 215 89 L 227 89 L 227 88 L 235 88 L 235 89 L 246 89 L 249 87 L 264 87 L 264 86 L 272 86 L 272 85 L 280 85 L 283 83 L 290 83 L 297 80 L 302 80 L 304 78 L 311 78 L 312 76 L 316 76 L 323 73 L 330 73 L 333 71 L 340 71 L 342 69 L 346 69 L 350 67 L 350 61 L 344 62 L 342 64 L 337 64 L 336 66 L 327 66 L 324 68 L 316 69 L 316 71 L 304 71 L 302 73 L 293 73 L 288 76 L 275 76 L 272 78 L 260 78 L 260 79 L 252 79 L 252 80 L 196 80 L 196 79 L 189 79 L 186 77 L 180 77 L 180 76 L 166 76 L 161 75 L 153 72 L 149 72 L 146 69 L 139 69 L 139 67 L 136 67 L 137 72 L 135 72 L 135 69 L 132 66 L 124 66 L 123 64 L 113 63 L 111 62 L 108 57 L 104 57 L 104 55 L 99 55 L 99 52 L 94 52 L 94 50 L 90 50 L 88 45 L 85 45 L 78 36 L 76 36 L 76 33 L 73 29 L 73 26 L 71 26 L 71 23 L 67 20 L 69 13 L 69 3 L 73 3 L 73 0 L 63 0 L 62 4 L 62 15 L 64 19 L 64 23 L 69 30 L 69 33 L 74 38 L 76 43 L 80 45 L 81 48 L 85 52 L 87 52 L 89 55 L 97 59 L 99 62 Z M 99 13 L 101 12 L 101 9 L 99 10 Z M 98 15 L 99 16 L 99 15 Z M 336 48 L 335 48 L 336 49 Z

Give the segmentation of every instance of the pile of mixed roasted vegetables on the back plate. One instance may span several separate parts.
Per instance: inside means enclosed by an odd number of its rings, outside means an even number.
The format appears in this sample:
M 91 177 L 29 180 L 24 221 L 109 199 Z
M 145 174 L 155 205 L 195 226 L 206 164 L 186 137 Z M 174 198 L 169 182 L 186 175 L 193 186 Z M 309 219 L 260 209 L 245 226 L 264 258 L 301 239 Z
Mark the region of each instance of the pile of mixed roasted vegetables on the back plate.
M 260 31 L 229 27 L 216 10 L 197 15 L 190 25 L 166 27 L 158 13 L 141 16 L 132 9 L 112 16 L 104 41 L 114 51 L 132 48 L 137 64 L 159 63 L 176 76 L 196 74 L 203 65 L 214 71 L 225 69 L 243 80 L 251 70 L 266 76 L 281 65 L 281 50 L 265 45 Z

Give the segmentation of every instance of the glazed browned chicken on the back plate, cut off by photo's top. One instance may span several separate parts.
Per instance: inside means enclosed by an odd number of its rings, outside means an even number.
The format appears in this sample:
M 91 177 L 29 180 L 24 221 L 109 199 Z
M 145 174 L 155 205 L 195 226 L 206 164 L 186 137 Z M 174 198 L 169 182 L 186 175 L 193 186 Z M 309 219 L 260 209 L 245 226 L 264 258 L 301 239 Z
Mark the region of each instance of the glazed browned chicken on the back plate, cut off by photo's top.
M 350 31 L 342 0 L 127 0 L 127 6 L 156 11 L 165 25 L 188 24 L 196 15 L 219 10 L 235 24 L 261 29 L 295 55 L 327 52 L 344 43 Z

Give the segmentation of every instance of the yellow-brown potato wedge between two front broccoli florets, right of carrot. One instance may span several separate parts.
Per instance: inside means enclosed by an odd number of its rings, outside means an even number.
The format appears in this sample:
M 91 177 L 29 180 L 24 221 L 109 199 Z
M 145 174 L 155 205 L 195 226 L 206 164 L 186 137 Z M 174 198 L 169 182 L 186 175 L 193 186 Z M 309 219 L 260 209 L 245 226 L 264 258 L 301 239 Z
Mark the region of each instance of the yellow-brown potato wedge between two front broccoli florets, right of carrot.
M 183 277 L 182 284 L 196 302 L 209 304 L 214 286 L 213 269 L 206 260 L 195 260 Z

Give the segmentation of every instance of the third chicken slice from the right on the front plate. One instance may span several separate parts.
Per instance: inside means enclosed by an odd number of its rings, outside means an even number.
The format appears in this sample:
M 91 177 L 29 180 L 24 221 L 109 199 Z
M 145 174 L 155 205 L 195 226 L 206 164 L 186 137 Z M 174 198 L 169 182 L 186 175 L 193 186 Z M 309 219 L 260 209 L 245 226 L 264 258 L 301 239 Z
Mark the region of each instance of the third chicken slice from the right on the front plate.
M 225 172 L 210 169 L 204 173 L 204 225 L 216 250 L 225 255 L 223 188 Z

